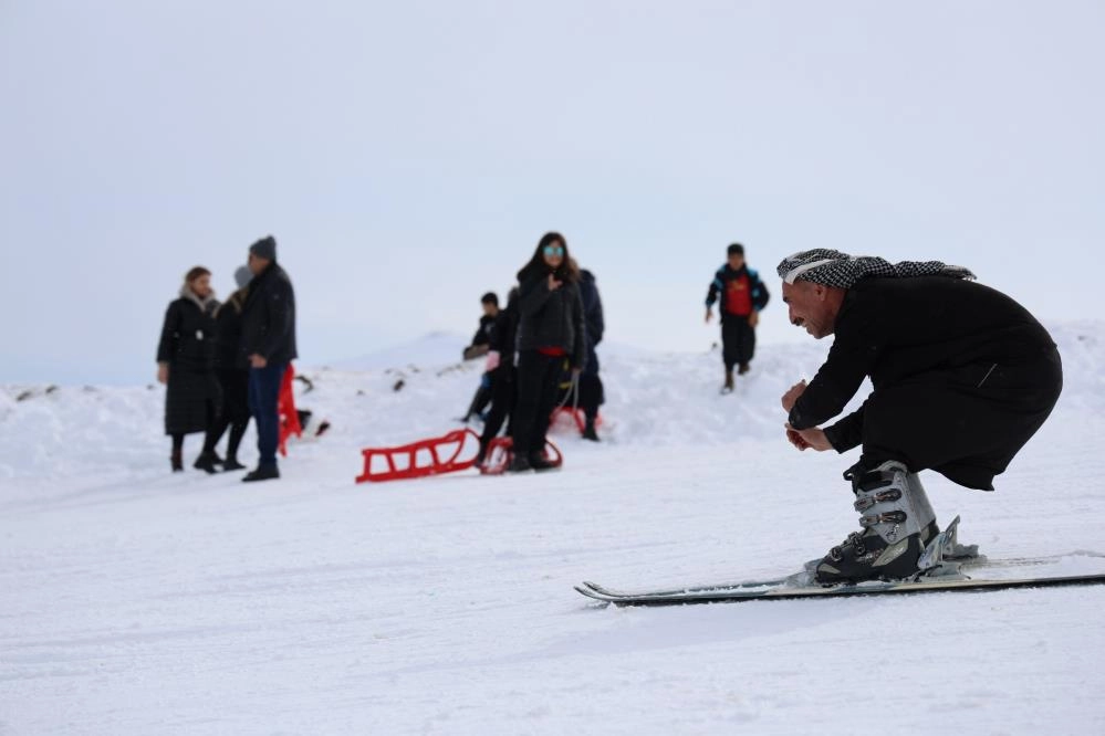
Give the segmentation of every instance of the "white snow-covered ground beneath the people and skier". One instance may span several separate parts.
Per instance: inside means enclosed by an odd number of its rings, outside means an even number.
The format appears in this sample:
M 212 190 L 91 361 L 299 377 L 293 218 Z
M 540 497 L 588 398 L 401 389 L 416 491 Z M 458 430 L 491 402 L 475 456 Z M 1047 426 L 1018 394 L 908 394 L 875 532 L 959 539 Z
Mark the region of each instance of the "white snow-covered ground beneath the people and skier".
M 924 477 L 992 557 L 1103 571 L 1105 323 L 1050 327 L 1065 391 L 998 492 Z M 572 590 L 790 572 L 856 528 L 854 458 L 781 432 L 827 344 L 761 346 L 729 397 L 716 354 L 611 349 L 605 442 L 557 435 L 562 472 L 354 484 L 361 448 L 456 427 L 462 341 L 305 370 L 333 429 L 275 483 L 168 473 L 160 388 L 0 390 L 0 735 L 1105 733 L 1105 587 Z

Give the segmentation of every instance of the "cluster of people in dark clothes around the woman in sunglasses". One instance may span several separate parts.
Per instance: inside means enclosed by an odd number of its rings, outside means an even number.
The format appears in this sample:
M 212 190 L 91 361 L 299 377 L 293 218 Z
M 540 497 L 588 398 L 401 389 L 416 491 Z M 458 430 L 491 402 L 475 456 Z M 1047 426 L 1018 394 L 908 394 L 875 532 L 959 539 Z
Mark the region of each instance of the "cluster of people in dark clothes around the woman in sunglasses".
M 597 442 L 598 407 L 604 401 L 595 346 L 605 324 L 594 275 L 581 270 L 557 232 L 542 235 L 529 262 L 518 272 L 507 306 L 484 295 L 484 316 L 466 358 L 488 356 L 480 391 L 466 419 L 490 403 L 480 438 L 478 462 L 510 420 L 510 472 L 548 470 L 546 434 L 557 399 L 584 412 L 582 434 Z M 517 354 L 517 362 L 515 362 Z

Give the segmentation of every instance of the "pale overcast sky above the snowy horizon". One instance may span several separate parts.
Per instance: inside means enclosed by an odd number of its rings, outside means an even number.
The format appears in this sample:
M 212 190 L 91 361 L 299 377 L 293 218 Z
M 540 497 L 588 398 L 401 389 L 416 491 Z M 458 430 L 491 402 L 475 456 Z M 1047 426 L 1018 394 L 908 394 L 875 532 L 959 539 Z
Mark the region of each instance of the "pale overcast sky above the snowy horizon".
M 471 333 L 546 230 L 608 338 L 705 350 L 740 241 L 1098 317 L 1105 3 L 0 0 L 0 381 L 153 379 L 273 233 L 301 361 Z M 826 346 L 827 347 L 827 346 Z

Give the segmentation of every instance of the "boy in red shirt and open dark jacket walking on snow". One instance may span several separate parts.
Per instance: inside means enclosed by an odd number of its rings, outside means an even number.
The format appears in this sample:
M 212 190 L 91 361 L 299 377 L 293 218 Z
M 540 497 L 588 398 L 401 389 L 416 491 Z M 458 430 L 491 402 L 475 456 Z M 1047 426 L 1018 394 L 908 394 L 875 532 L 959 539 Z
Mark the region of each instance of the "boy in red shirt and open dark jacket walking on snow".
M 729 246 L 729 260 L 718 269 L 706 294 L 706 322 L 713 318 L 713 303 L 721 297 L 721 358 L 726 364 L 722 392 L 733 390 L 733 366 L 747 374 L 755 353 L 755 326 L 760 311 L 768 306 L 768 287 L 744 263 L 744 246 Z

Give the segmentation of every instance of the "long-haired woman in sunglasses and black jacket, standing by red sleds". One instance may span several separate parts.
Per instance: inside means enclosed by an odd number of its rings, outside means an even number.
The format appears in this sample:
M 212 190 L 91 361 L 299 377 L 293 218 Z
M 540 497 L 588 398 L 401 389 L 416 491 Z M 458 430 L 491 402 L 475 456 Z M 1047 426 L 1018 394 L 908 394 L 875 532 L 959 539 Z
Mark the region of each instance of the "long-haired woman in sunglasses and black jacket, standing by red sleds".
M 549 417 L 556 402 L 556 385 L 566 357 L 573 374 L 587 359 L 583 326 L 580 269 L 567 252 L 567 241 L 545 233 L 530 262 L 518 272 L 518 404 L 511 437 L 510 470 L 546 470 L 544 456 Z

